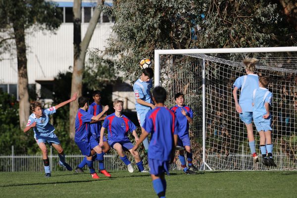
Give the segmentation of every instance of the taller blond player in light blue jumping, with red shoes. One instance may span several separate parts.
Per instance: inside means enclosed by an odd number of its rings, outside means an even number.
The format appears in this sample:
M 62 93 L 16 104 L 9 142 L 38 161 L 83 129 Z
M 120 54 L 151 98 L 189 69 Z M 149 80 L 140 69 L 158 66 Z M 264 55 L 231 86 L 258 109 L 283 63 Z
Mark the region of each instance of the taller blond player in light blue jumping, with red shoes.
M 243 62 L 245 64 L 247 75 L 241 76 L 235 80 L 233 85 L 233 97 L 236 105 L 236 111 L 239 113 L 239 117 L 247 127 L 248 144 L 253 156 L 253 161 L 259 162 L 252 129 L 252 92 L 254 89 L 259 88 L 258 75 L 254 74 L 256 61 L 257 59 L 255 58 L 244 59 Z M 239 102 L 237 97 L 238 90 L 241 90 Z

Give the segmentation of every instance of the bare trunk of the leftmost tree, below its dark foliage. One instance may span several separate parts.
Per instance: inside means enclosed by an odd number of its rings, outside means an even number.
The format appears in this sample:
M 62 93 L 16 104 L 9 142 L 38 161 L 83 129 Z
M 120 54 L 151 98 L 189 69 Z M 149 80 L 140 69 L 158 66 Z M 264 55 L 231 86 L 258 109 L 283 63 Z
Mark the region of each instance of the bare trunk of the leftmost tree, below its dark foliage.
M 28 94 L 28 74 L 27 74 L 27 56 L 25 43 L 24 25 L 13 24 L 16 52 L 17 52 L 17 69 L 18 69 L 18 93 L 19 93 L 19 122 L 20 127 L 26 126 L 29 110 L 29 94 Z

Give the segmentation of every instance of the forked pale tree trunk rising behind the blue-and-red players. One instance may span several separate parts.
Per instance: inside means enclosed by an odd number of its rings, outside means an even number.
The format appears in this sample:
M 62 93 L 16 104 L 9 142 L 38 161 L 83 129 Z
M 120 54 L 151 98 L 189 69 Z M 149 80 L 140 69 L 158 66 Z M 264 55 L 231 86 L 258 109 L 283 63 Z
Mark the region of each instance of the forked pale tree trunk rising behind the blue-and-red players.
M 97 5 L 102 3 L 102 1 L 98 0 Z M 94 10 L 93 16 L 89 22 L 89 26 L 84 36 L 83 41 L 81 41 L 81 0 L 74 0 L 73 5 L 73 34 L 74 34 L 74 63 L 73 63 L 73 73 L 72 73 L 72 81 L 71 81 L 71 96 L 77 92 L 78 96 L 82 95 L 82 87 L 83 87 L 83 71 L 85 67 L 85 58 L 86 58 L 86 50 L 90 44 L 92 39 L 92 35 L 98 23 L 98 19 L 100 17 L 101 11 L 97 8 Z M 75 117 L 78 110 L 77 102 L 70 103 L 70 113 L 69 113 L 69 133 L 70 138 L 74 138 L 75 135 Z

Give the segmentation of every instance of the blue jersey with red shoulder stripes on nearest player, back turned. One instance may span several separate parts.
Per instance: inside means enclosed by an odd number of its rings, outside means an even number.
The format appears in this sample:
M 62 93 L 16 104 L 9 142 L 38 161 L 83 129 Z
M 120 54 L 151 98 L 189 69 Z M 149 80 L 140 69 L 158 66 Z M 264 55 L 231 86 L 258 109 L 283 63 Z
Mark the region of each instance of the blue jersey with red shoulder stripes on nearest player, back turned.
M 148 158 L 161 161 L 170 160 L 173 135 L 177 135 L 178 131 L 174 113 L 166 107 L 156 107 L 148 111 L 143 128 L 151 134 Z

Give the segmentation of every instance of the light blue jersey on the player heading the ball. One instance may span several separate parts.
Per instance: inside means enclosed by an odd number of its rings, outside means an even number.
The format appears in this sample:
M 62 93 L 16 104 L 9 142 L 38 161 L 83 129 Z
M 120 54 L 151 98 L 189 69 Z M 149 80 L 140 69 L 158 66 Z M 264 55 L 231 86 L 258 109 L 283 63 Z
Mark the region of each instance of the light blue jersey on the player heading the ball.
M 135 108 L 136 110 L 140 109 L 149 109 L 149 106 L 145 106 L 142 104 L 139 104 L 137 102 L 137 99 L 142 99 L 148 103 L 152 103 L 151 97 L 150 97 L 150 89 L 152 88 L 152 81 L 151 79 L 148 82 L 144 82 L 140 79 L 138 79 L 134 85 L 133 85 L 133 91 L 135 93 Z

